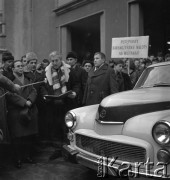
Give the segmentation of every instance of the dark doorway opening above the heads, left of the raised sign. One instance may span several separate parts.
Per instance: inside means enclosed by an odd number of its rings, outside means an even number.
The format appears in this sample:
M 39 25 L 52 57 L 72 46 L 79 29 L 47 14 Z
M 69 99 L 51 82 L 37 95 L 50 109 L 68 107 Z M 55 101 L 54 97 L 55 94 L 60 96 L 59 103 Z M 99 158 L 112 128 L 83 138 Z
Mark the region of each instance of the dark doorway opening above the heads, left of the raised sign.
M 93 60 L 94 53 L 100 51 L 100 15 L 75 21 L 68 28 L 72 51 L 78 54 L 79 62 Z

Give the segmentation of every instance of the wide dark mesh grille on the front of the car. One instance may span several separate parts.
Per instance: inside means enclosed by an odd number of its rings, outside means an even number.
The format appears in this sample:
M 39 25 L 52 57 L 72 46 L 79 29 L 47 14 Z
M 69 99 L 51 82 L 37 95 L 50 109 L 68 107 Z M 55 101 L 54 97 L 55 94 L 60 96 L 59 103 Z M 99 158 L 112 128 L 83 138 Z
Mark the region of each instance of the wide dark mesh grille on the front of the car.
M 128 162 L 146 162 L 145 148 L 76 134 L 76 146 L 90 153 Z

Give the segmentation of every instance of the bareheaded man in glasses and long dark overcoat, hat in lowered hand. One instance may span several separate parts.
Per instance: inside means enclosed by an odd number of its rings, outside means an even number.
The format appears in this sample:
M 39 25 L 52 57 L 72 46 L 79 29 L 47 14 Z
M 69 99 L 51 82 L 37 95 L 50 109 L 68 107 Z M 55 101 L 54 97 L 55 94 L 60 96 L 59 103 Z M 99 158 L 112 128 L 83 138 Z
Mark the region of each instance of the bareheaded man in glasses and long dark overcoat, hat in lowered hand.
M 30 81 L 24 76 L 20 60 L 14 62 L 13 82 L 20 86 L 29 85 Z M 31 148 L 34 135 L 38 133 L 37 107 L 35 105 L 36 90 L 29 85 L 22 87 L 19 94 L 7 94 L 8 125 L 12 138 L 16 166 L 21 167 L 21 162 L 33 162 Z

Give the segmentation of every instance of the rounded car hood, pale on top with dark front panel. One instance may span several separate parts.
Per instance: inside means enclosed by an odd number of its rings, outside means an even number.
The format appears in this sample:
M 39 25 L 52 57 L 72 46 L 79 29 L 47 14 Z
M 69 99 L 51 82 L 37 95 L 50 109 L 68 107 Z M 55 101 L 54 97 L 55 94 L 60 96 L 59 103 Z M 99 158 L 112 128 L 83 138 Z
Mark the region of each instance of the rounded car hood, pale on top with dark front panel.
M 136 115 L 170 109 L 170 88 L 141 88 L 106 97 L 100 104 L 98 120 L 125 122 Z

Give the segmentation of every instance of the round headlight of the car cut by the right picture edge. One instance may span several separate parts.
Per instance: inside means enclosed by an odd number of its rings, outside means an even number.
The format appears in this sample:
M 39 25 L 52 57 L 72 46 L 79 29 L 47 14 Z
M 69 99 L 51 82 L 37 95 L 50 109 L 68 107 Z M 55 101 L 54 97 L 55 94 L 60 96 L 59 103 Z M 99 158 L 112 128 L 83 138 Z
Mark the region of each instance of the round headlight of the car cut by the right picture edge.
M 167 121 L 158 121 L 152 129 L 152 136 L 159 145 L 170 143 L 170 123 Z

